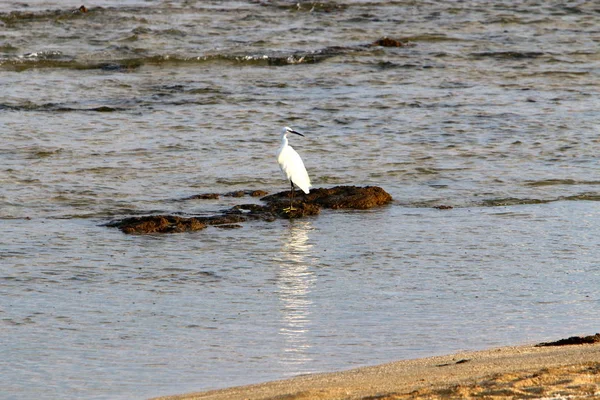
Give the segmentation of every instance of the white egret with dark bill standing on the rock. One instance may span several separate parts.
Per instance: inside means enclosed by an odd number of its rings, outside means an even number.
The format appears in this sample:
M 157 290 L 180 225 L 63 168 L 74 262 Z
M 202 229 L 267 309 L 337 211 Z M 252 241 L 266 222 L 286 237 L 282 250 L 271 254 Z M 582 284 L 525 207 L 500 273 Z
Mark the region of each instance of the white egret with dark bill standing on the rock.
M 288 145 L 288 133 L 295 133 L 300 136 L 304 135 L 286 126 L 281 130 L 281 146 L 277 151 L 279 168 L 281 168 L 281 172 L 283 172 L 286 179 L 290 181 L 292 187 L 290 194 L 290 208 L 285 210 L 292 211 L 295 210 L 293 207 L 294 185 L 298 186 L 306 194 L 309 193 L 309 189 L 312 185 L 310 184 L 310 178 L 308 177 L 308 173 L 306 172 L 306 168 L 304 167 L 300 155 L 292 148 L 292 146 Z

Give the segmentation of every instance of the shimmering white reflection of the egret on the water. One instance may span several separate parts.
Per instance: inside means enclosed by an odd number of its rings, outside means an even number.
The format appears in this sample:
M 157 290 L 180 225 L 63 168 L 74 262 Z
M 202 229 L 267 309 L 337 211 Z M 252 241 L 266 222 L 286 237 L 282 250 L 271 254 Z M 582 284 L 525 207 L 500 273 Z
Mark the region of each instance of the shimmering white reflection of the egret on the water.
M 282 236 L 281 264 L 277 276 L 281 303 L 281 327 L 279 334 L 284 340 L 281 363 L 284 373 L 294 375 L 311 372 L 307 369 L 312 361 L 309 331 L 311 326 L 310 298 L 315 282 L 309 243 L 310 222 L 293 221 L 289 231 Z

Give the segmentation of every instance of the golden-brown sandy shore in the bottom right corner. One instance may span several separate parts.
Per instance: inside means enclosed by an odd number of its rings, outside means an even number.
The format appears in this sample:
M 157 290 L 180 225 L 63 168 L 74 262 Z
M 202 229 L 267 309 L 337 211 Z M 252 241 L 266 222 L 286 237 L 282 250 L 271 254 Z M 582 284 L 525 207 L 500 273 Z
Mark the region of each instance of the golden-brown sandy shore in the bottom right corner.
M 162 400 L 600 398 L 600 344 L 502 347 Z

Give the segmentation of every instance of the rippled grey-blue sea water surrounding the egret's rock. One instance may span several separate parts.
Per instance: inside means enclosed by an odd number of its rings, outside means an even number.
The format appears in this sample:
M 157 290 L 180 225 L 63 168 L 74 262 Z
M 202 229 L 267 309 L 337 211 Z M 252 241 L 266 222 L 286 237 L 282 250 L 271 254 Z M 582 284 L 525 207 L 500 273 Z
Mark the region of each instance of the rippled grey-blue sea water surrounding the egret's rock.
M 102 7 L 0 1 L 0 397 L 148 398 L 597 330 L 593 3 Z M 412 45 L 368 46 L 383 36 Z M 394 202 L 103 226 L 285 190 L 285 125 L 314 186 Z

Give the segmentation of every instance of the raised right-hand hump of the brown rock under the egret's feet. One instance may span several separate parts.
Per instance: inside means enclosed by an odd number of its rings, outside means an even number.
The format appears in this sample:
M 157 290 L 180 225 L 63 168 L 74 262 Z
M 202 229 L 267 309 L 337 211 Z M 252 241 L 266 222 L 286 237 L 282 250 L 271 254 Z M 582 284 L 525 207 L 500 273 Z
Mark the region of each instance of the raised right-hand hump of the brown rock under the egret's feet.
M 287 203 L 289 206 L 289 195 L 289 191 L 284 191 L 261 200 L 278 206 L 285 206 Z M 330 189 L 311 189 L 309 194 L 296 191 L 294 200 L 324 208 L 366 210 L 390 203 L 392 196 L 378 186 L 336 186 Z

